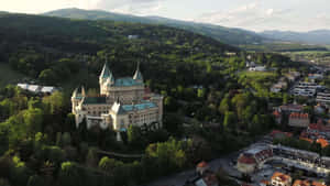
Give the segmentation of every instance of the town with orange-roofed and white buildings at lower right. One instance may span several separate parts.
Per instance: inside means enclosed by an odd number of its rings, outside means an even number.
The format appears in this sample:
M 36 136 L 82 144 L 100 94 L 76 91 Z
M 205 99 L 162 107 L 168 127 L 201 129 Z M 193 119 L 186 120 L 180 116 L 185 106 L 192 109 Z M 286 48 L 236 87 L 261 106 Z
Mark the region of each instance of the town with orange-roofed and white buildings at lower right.
M 270 70 L 253 62 L 246 62 L 246 68 L 250 72 Z M 210 165 L 200 162 L 195 172 L 173 177 L 168 183 L 180 180 L 174 185 L 217 186 L 221 185 L 219 174 L 224 174 L 241 186 L 327 186 L 330 91 L 319 84 L 327 74 L 328 69 L 310 66 L 305 74 L 288 72 L 279 77 L 270 91 L 286 92 L 293 97 L 293 102 L 270 108 L 277 123 L 276 130 L 237 153 L 210 162 Z

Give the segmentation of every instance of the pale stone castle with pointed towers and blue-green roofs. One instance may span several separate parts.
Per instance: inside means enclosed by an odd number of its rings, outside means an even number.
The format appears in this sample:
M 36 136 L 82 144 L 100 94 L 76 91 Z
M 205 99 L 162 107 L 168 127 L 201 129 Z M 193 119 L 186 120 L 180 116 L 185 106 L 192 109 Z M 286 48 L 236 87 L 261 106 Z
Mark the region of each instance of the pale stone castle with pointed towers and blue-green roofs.
M 86 119 L 87 129 L 99 127 L 118 133 L 130 125 L 162 127 L 163 96 L 150 92 L 143 81 L 140 64 L 133 77 L 114 78 L 107 63 L 99 77 L 100 95 L 89 97 L 85 88 L 72 96 L 76 127 Z

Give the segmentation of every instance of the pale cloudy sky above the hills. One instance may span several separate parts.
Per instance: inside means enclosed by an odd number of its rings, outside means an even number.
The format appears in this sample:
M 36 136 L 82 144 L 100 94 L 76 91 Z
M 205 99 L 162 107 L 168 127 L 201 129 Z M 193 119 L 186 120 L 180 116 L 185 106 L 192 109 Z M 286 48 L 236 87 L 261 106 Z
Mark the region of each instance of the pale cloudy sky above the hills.
M 329 0 L 0 0 L 0 11 L 43 13 L 57 9 L 158 15 L 251 31 L 330 30 Z

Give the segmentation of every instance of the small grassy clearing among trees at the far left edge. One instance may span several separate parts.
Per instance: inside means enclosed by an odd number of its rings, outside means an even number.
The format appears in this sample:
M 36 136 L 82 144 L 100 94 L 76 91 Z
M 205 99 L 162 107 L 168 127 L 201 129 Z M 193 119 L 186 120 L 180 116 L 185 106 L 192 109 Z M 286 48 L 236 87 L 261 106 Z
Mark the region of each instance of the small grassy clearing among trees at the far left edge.
M 23 78 L 24 75 L 11 69 L 8 64 L 0 63 L 0 87 L 20 83 Z

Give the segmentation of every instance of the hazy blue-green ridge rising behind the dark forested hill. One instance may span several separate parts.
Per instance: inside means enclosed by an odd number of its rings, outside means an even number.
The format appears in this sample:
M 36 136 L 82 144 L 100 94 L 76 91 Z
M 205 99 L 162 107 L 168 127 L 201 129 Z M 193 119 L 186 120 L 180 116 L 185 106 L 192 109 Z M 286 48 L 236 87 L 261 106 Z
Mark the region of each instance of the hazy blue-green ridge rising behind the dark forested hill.
M 86 19 L 86 20 L 112 20 L 123 22 L 147 23 L 147 24 L 162 24 L 187 31 L 193 31 L 206 36 L 210 36 L 220 42 L 239 45 L 239 44 L 255 44 L 263 43 L 264 39 L 254 32 L 230 29 L 220 25 L 204 24 L 196 22 L 178 21 L 173 19 L 160 17 L 134 17 L 128 14 L 111 13 L 100 10 L 81 10 L 81 9 L 62 9 L 44 13 L 50 17 L 61 17 L 70 19 Z

